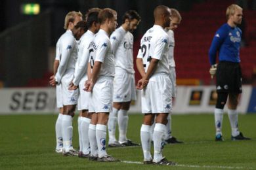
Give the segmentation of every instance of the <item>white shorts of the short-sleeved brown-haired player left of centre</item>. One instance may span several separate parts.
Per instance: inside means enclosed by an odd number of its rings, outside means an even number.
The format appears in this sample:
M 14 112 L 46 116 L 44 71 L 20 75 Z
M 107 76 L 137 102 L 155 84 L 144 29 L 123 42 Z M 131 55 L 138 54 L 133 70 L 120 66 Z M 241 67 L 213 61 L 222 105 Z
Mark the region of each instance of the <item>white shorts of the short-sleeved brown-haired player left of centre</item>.
M 96 80 L 89 99 L 89 112 L 111 112 L 113 80 L 111 76 L 100 76 Z

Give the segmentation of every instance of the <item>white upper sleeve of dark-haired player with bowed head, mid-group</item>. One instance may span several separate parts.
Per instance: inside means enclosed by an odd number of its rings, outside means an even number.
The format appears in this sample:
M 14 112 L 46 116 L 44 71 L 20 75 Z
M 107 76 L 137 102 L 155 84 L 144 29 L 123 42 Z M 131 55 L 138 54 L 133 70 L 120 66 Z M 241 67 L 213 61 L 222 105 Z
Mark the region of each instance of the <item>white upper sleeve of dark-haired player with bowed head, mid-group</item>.
M 125 36 L 125 33 L 126 33 L 125 29 L 123 29 L 123 27 L 119 27 L 110 36 L 110 42 L 111 42 L 111 45 L 112 45 L 112 50 L 113 50 L 114 55 L 116 54 L 116 50 L 117 50 L 120 42 L 123 40 L 123 37 Z

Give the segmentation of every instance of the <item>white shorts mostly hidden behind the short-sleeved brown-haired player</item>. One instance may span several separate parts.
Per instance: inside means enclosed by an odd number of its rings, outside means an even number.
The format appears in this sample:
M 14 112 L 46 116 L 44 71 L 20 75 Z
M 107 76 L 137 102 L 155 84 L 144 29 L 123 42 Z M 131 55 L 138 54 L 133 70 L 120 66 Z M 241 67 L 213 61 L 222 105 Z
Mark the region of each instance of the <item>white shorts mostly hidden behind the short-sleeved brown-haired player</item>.
M 79 82 L 79 97 L 77 100 L 77 110 L 88 110 L 89 109 L 89 92 L 85 92 L 83 90 L 85 88 L 85 81 L 87 80 L 87 76 L 81 78 Z

